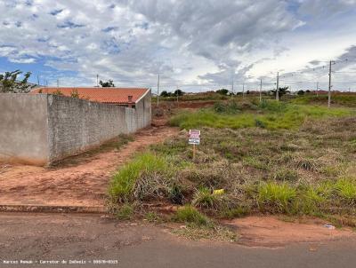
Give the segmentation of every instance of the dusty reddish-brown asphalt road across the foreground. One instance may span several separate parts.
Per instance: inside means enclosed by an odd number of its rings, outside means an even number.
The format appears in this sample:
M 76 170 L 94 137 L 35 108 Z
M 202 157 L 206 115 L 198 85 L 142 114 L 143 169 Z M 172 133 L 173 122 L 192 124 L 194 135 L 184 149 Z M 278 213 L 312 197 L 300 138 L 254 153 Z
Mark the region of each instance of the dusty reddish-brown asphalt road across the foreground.
M 335 268 L 355 267 L 355 253 L 354 240 L 248 248 L 191 242 L 174 237 L 164 226 L 97 215 L 0 214 L 0 267 Z M 116 264 L 93 264 L 95 260 Z M 52 261 L 59 264 L 48 263 Z M 86 264 L 69 264 L 76 261 Z

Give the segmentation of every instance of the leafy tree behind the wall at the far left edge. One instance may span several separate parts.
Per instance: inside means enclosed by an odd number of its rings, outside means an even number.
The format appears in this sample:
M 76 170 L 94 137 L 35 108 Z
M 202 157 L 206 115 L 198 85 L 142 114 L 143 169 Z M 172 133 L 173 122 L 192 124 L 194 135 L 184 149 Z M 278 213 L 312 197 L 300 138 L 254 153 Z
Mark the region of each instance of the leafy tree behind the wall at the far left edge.
M 18 81 L 18 75 L 22 74 L 20 70 L 13 72 L 5 72 L 0 75 L 0 92 L 3 93 L 27 93 L 30 91 L 31 86 L 28 84 L 28 78 L 31 75 L 27 72 L 23 79 Z

